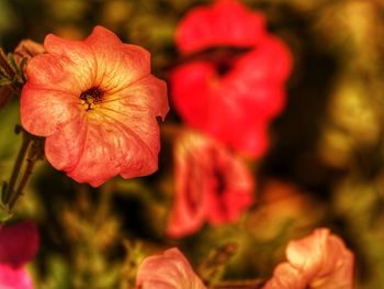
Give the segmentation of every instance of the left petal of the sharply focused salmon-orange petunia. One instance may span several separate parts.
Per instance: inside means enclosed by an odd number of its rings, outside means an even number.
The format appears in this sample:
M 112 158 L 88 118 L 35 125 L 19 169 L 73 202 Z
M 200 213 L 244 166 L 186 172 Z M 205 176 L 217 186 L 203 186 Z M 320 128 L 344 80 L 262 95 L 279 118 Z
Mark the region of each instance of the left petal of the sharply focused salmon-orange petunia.
M 79 118 L 79 99 L 57 90 L 36 88 L 25 84 L 21 97 L 21 123 L 30 133 L 49 136 L 61 126 Z

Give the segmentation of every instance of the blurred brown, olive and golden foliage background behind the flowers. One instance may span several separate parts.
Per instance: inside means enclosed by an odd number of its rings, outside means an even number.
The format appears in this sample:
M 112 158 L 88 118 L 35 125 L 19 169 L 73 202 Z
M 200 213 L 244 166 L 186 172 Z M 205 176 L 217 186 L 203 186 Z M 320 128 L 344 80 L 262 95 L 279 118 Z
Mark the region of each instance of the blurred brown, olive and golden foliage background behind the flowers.
M 0 0 L 0 45 L 48 33 L 83 38 L 101 24 L 151 53 L 168 78 L 174 30 L 194 0 Z M 289 240 L 327 226 L 355 254 L 357 288 L 384 288 L 384 1 L 244 0 L 290 47 L 286 105 L 270 125 L 270 148 L 251 164 L 257 202 L 234 224 L 181 240 L 165 236 L 172 203 L 172 156 L 162 136 L 159 171 L 91 189 L 41 162 L 15 220 L 35 220 L 36 288 L 126 288 L 137 263 L 179 246 L 195 266 L 237 244 L 215 267 L 223 279 L 268 278 Z M 20 136 L 18 100 L 0 111 L 0 177 L 9 177 Z M 181 123 L 170 111 L 165 124 Z M 225 249 L 224 249 L 225 251 Z M 230 249 L 229 249 L 230 251 Z

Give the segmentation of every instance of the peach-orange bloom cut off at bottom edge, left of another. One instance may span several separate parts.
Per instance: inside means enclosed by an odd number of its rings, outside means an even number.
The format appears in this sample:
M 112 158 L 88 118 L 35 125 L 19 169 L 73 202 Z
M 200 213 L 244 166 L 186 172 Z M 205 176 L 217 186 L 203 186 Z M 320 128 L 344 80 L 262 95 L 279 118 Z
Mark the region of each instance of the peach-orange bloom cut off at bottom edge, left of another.
M 140 264 L 137 289 L 206 289 L 178 248 L 150 256 Z

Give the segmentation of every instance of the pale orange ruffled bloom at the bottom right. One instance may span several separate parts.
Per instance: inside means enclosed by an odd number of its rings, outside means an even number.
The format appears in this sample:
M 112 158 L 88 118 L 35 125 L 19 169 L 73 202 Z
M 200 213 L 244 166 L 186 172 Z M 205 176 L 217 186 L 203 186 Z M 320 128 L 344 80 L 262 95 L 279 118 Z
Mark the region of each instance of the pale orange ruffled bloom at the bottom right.
M 352 289 L 353 254 L 327 229 L 318 229 L 286 248 L 263 289 Z

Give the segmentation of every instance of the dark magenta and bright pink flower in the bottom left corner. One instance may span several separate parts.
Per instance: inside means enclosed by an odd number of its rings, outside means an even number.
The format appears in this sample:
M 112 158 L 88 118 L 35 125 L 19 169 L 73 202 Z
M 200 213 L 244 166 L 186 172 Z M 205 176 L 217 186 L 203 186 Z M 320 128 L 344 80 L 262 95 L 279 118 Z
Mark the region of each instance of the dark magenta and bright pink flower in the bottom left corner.
M 33 222 L 0 229 L 0 288 L 33 288 L 24 265 L 35 256 L 37 248 L 38 235 Z

